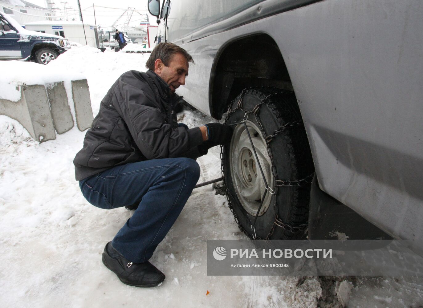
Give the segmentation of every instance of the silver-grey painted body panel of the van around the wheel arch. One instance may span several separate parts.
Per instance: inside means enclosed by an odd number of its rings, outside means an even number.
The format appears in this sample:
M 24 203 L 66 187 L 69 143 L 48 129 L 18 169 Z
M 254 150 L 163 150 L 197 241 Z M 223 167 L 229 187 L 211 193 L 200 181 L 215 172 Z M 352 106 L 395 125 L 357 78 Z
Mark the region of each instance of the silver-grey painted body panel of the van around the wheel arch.
M 220 55 L 243 38 L 269 36 L 297 96 L 321 190 L 422 246 L 421 1 L 325 0 L 269 13 L 287 3 L 250 1 L 195 28 L 208 8 L 222 12 L 228 4 L 172 2 L 166 37 L 195 61 L 178 94 L 214 115 Z M 164 41 L 163 28 L 159 35 Z

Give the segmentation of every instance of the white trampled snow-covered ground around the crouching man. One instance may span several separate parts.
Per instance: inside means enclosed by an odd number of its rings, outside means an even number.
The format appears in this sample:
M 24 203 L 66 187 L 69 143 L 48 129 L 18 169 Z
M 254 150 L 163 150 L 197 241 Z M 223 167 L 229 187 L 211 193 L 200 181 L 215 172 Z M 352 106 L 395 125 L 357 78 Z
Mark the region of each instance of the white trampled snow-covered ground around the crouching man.
M 96 115 L 116 78 L 145 71 L 148 56 L 81 47 L 47 67 L 1 61 L 0 98 L 16 98 L 14 87 L 4 84 L 11 74 L 41 82 L 57 72 L 83 75 Z M 190 110 L 178 117 L 190 127 L 213 121 Z M 150 260 L 165 282 L 150 289 L 124 285 L 101 254 L 132 212 L 102 210 L 82 197 L 72 160 L 84 135 L 74 127 L 39 144 L 18 122 L 0 116 L 1 307 L 340 307 L 334 290 L 343 280 L 354 286 L 347 307 L 423 307 L 418 278 L 207 276 L 207 239 L 245 238 L 211 185 L 194 190 Z M 198 159 L 200 182 L 220 177 L 219 153 L 213 148 Z

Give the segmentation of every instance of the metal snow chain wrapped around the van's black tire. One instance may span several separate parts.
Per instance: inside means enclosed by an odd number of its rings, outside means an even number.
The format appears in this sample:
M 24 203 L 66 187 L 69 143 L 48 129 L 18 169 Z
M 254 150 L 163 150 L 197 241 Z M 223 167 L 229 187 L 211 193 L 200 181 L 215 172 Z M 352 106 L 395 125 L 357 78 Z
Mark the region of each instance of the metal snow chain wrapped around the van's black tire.
M 272 88 L 272 89 L 274 89 L 273 87 L 261 87 L 261 88 Z M 264 132 L 263 126 L 261 124 L 261 121 L 260 121 L 260 119 L 258 118 L 258 115 L 257 115 L 258 114 L 258 110 L 260 109 L 261 105 L 265 104 L 266 102 L 269 102 L 269 100 L 273 96 L 277 96 L 277 95 L 280 95 L 280 94 L 291 94 L 293 92 L 291 92 L 291 91 L 281 91 L 281 92 L 276 92 L 276 93 L 269 94 L 264 99 L 262 99 L 261 102 L 259 102 L 253 108 L 252 111 L 247 111 L 242 106 L 242 99 L 244 98 L 245 91 L 252 90 L 252 89 L 258 89 L 258 88 L 257 87 L 250 87 L 250 88 L 245 88 L 244 90 L 242 90 L 241 94 L 239 95 L 240 98 L 239 98 L 239 101 L 237 103 L 237 107 L 236 108 L 231 109 L 232 102 L 229 103 L 228 111 L 227 111 L 227 114 L 226 114 L 226 117 L 225 117 L 224 124 L 227 123 L 227 121 L 228 121 L 228 119 L 229 119 L 229 117 L 230 117 L 230 115 L 232 113 L 235 113 L 237 110 L 242 110 L 244 112 L 244 119 L 241 122 L 236 123 L 236 124 L 242 124 L 244 121 L 247 120 L 248 116 L 250 114 L 252 114 L 252 115 L 254 115 L 255 121 L 257 122 L 258 126 L 261 129 L 261 134 L 263 136 L 266 136 L 266 133 Z M 275 132 L 272 135 L 268 135 L 268 136 L 264 137 L 264 140 L 266 140 L 266 144 L 267 144 L 267 147 L 266 147 L 267 148 L 267 154 L 269 155 L 270 160 L 271 160 L 271 163 L 272 163 L 272 173 L 273 173 L 273 176 L 275 177 L 275 179 L 276 179 L 276 174 L 275 174 L 276 173 L 276 169 L 275 169 L 275 165 L 273 163 L 273 155 L 272 155 L 272 153 L 270 151 L 269 143 L 272 141 L 272 139 L 275 136 L 277 136 L 278 134 L 280 134 L 284 130 L 290 129 L 290 128 L 296 127 L 296 126 L 301 126 L 301 125 L 303 125 L 303 122 L 301 120 L 299 120 L 299 121 L 293 121 L 293 122 L 290 122 L 290 123 L 286 123 L 286 124 L 280 126 L 279 129 L 275 130 Z M 221 170 L 222 170 L 222 178 L 225 179 L 225 174 L 224 174 L 224 170 L 223 170 L 223 146 L 222 145 L 220 146 L 220 167 L 221 167 Z M 314 173 L 312 173 L 312 174 L 306 176 L 304 179 L 300 179 L 300 180 L 275 180 L 275 187 L 293 187 L 293 186 L 299 186 L 299 187 L 301 187 L 301 186 L 305 186 L 305 185 L 308 185 L 308 184 L 311 183 L 311 179 L 313 179 L 313 176 L 314 176 Z M 225 180 L 223 180 L 223 181 L 224 181 L 224 185 L 226 186 Z M 277 188 L 276 188 L 276 190 L 273 189 L 273 191 L 276 194 L 277 193 Z M 288 225 L 286 223 L 283 223 L 282 220 L 280 220 L 280 218 L 278 216 L 278 212 L 277 212 L 277 208 L 276 208 L 277 203 L 275 202 L 274 205 L 273 205 L 274 206 L 274 212 L 275 212 L 275 221 L 273 222 L 273 225 L 272 225 L 272 228 L 269 231 L 269 234 L 267 234 L 267 236 L 265 238 L 261 238 L 260 236 L 257 236 L 257 235 L 255 235 L 255 236 L 253 235 L 252 236 L 252 235 L 248 234 L 247 231 L 245 231 L 245 229 L 242 227 L 242 225 L 240 225 L 239 220 L 238 220 L 238 217 L 236 216 L 236 213 L 233 210 L 233 206 L 232 206 L 232 202 L 231 202 L 231 198 L 233 198 L 233 196 L 231 195 L 231 192 L 229 191 L 229 189 L 227 187 L 226 187 L 226 190 L 225 190 L 225 195 L 226 195 L 226 199 L 228 200 L 228 207 L 231 210 L 231 212 L 233 214 L 233 217 L 235 218 L 235 222 L 238 224 L 239 230 L 241 230 L 244 234 L 246 234 L 250 238 L 253 238 L 253 239 L 266 239 L 267 240 L 267 239 L 269 239 L 270 236 L 272 236 L 272 234 L 275 231 L 275 228 L 276 227 L 279 227 L 279 228 L 282 228 L 282 229 L 284 229 L 286 231 L 289 231 L 292 234 L 297 234 L 299 232 L 304 232 L 304 234 L 306 234 L 307 231 L 308 231 L 308 222 L 307 223 L 303 223 L 303 224 L 298 225 L 298 226 L 291 226 L 291 225 Z M 246 218 L 247 218 L 247 220 L 251 224 L 250 219 L 248 217 L 246 217 Z M 252 228 L 253 228 L 253 225 L 252 225 Z

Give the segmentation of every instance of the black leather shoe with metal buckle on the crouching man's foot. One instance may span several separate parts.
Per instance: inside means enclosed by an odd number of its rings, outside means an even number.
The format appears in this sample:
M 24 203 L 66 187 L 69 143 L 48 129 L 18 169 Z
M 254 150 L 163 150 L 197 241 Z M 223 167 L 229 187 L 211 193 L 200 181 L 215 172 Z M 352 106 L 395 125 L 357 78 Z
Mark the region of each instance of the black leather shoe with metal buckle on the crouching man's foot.
M 133 263 L 120 254 L 117 257 L 110 256 L 108 250 L 114 250 L 113 256 L 118 254 L 118 252 L 112 247 L 111 242 L 108 242 L 103 251 L 103 264 L 108 269 L 115 272 L 119 280 L 123 283 L 129 286 L 151 287 L 157 286 L 165 280 L 165 274 L 160 272 L 150 262 Z

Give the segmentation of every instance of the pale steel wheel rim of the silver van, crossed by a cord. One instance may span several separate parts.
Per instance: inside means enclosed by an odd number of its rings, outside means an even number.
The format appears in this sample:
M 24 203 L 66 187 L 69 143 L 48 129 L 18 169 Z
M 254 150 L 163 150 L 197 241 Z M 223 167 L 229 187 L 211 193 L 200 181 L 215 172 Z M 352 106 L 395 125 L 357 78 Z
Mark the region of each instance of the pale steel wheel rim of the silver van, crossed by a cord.
M 272 174 L 271 160 L 267 153 L 266 141 L 261 135 L 261 130 L 255 123 L 247 120 L 246 124 L 266 182 L 269 187 L 273 187 L 275 180 Z M 237 125 L 233 131 L 229 163 L 233 185 L 239 201 L 248 214 L 255 216 L 260 206 L 261 198 L 266 190 L 266 185 L 244 124 Z M 272 195 L 266 193 L 259 216 L 266 213 L 271 199 Z

